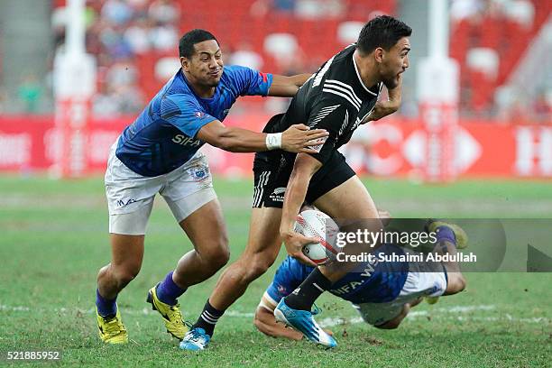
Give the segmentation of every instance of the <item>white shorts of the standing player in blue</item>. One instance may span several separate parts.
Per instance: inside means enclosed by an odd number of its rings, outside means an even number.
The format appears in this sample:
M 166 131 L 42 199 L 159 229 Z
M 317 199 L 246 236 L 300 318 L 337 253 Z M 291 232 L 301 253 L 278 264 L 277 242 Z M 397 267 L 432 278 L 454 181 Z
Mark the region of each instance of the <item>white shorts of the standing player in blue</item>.
M 216 199 L 207 157 L 197 152 L 178 169 L 144 177 L 127 168 L 111 147 L 106 170 L 109 233 L 144 235 L 157 193 L 165 199 L 177 222 Z

